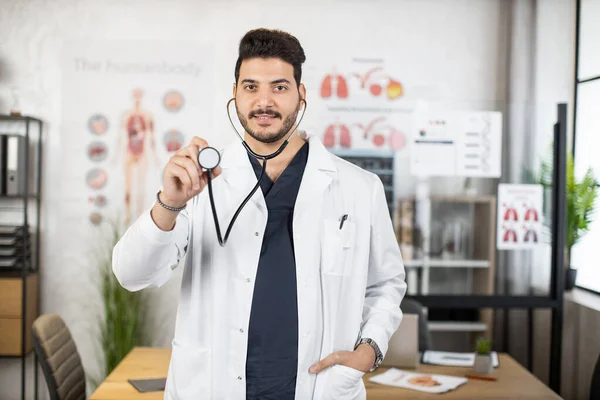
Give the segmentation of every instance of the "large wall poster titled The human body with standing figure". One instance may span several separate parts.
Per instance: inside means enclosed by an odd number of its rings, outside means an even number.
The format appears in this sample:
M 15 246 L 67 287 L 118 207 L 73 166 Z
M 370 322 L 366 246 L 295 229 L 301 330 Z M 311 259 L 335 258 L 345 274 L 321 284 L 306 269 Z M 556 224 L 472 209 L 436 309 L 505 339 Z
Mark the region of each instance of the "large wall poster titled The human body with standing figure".
M 168 158 L 213 128 L 213 51 L 192 42 L 75 42 L 62 54 L 62 219 L 129 226 Z

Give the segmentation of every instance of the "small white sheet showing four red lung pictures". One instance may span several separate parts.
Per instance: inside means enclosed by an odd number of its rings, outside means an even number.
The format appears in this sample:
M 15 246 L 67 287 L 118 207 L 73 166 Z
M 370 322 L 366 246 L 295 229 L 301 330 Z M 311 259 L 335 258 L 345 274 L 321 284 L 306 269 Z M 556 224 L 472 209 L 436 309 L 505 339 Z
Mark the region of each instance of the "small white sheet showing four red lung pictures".
M 541 185 L 498 185 L 498 249 L 531 249 L 540 243 L 542 193 Z

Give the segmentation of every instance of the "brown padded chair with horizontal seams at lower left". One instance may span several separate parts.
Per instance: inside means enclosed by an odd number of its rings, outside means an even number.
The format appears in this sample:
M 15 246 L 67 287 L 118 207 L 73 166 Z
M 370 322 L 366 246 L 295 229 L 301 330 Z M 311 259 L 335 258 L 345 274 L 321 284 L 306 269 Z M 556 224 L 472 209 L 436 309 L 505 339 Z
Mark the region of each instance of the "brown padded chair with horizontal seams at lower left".
M 44 314 L 33 323 L 33 349 L 40 361 L 51 400 L 85 400 L 85 373 L 63 319 Z

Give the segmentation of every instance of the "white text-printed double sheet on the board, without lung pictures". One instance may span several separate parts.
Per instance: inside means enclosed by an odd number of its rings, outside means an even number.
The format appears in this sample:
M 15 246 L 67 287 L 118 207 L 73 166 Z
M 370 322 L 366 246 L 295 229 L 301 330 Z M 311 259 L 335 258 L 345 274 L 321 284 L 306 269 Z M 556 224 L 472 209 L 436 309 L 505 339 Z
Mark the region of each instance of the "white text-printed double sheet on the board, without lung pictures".
M 502 115 L 499 112 L 414 113 L 411 173 L 416 176 L 499 177 Z

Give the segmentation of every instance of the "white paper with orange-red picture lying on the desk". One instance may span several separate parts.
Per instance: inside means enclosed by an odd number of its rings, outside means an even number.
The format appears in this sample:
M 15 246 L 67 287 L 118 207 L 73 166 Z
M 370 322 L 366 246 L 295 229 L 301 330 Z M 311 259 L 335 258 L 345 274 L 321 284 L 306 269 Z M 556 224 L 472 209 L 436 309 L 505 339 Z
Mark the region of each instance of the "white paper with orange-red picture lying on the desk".
M 396 368 L 390 368 L 379 375 L 373 376 L 369 380 L 382 385 L 396 386 L 427 393 L 445 393 L 467 382 L 467 378 L 459 378 L 457 376 L 421 374 Z

